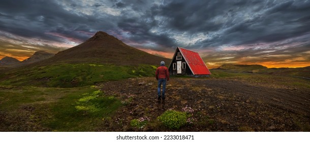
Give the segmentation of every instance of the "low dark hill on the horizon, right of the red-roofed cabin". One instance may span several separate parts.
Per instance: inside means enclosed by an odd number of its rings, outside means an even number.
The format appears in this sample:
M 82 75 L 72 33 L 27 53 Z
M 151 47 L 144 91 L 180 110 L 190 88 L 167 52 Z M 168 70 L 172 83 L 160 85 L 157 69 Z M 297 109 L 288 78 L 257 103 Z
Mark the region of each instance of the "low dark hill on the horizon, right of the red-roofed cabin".
M 266 66 L 260 64 L 223 64 L 218 69 L 236 70 L 241 72 L 249 72 L 256 69 L 266 69 Z

